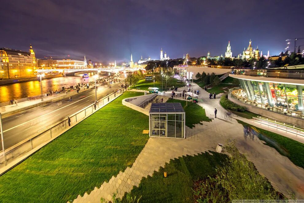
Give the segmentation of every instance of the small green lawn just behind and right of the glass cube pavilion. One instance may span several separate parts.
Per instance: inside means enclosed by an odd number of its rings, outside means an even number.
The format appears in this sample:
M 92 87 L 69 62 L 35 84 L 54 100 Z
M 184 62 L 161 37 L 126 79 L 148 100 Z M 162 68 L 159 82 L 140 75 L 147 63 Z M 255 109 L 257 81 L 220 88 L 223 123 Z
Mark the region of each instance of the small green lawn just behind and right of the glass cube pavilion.
M 186 106 L 186 101 L 184 100 L 176 100 L 176 99 L 169 99 L 167 100 L 167 103 L 181 103 L 185 110 L 185 119 L 186 123 L 185 125 L 189 128 L 195 127 L 195 124 L 201 124 L 202 121 L 210 122 L 212 121 L 211 118 L 208 118 L 206 116 L 205 109 L 203 109 L 200 105 L 197 103 L 193 103 L 188 101 L 188 106 Z

